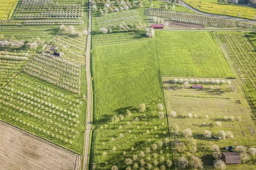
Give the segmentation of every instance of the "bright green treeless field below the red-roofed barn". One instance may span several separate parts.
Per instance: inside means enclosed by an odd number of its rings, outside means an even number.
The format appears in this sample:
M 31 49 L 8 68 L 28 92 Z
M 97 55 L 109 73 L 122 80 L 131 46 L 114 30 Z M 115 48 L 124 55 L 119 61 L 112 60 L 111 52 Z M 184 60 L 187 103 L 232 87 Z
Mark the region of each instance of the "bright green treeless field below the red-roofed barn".
M 161 75 L 234 77 L 210 32 L 157 31 L 156 43 Z

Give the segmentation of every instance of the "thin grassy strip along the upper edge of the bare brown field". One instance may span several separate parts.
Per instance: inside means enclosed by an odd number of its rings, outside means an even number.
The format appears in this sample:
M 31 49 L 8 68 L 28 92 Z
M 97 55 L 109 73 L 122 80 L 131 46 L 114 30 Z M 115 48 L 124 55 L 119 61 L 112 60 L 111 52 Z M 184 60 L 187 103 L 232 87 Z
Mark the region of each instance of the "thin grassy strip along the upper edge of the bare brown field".
M 16 129 L 22 131 L 23 133 L 26 133 L 28 136 L 30 136 L 30 137 L 32 137 L 32 138 L 35 138 L 35 139 L 38 139 L 38 140 L 41 140 L 41 141 L 43 141 L 43 142 L 47 142 L 47 143 L 51 144 L 51 145 L 54 146 L 54 147 L 57 147 L 57 148 L 59 148 L 59 149 L 65 150 L 65 151 L 67 151 L 67 152 L 70 152 L 70 153 L 73 153 L 73 154 L 82 156 L 80 153 L 77 153 L 77 152 L 75 152 L 75 151 L 73 151 L 73 150 L 71 150 L 71 149 L 68 149 L 67 147 L 63 147 L 63 146 L 61 146 L 60 144 L 56 144 L 55 142 L 49 141 L 48 139 L 45 139 L 45 138 L 43 138 L 43 137 L 41 137 L 41 136 L 38 136 L 37 134 L 30 133 L 29 131 L 24 130 L 24 129 L 20 128 L 20 127 L 17 127 L 17 126 L 15 126 L 15 125 L 12 125 L 11 123 L 5 122 L 5 121 L 3 121 L 3 120 L 0 120 L 0 123 L 2 123 L 2 124 L 7 124 L 7 125 L 10 125 L 10 126 L 12 126 L 12 127 L 15 127 Z

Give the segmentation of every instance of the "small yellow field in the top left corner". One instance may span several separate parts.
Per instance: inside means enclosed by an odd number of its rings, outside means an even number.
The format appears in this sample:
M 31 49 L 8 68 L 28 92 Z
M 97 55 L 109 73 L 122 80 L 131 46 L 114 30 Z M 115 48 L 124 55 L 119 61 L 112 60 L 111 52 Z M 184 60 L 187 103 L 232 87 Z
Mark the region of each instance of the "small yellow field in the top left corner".
M 18 0 L 0 0 L 0 20 L 8 20 L 16 8 Z

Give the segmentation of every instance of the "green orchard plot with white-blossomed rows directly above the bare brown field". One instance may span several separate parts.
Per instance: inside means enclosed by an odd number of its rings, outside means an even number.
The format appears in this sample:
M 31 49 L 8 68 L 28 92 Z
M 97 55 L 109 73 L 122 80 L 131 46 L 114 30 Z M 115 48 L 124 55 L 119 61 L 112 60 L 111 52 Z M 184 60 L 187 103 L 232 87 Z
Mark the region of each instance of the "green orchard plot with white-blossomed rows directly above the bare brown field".
M 81 149 L 76 139 L 83 135 L 84 102 L 79 97 L 19 74 L 2 88 L 0 98 L 4 121 L 75 151 Z

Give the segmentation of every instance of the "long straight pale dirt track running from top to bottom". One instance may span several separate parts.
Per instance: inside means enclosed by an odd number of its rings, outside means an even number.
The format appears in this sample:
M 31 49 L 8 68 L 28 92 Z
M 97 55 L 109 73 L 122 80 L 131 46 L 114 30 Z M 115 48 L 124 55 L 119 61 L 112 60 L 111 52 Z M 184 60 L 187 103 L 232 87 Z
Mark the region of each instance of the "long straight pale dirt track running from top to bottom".
M 84 135 L 84 167 L 83 170 L 87 170 L 88 161 L 88 151 L 90 142 L 90 125 L 91 125 L 91 80 L 90 80 L 90 40 L 92 33 L 92 9 L 91 0 L 89 0 L 89 26 L 88 26 L 88 36 L 87 36 L 87 46 L 86 46 L 86 79 L 87 79 L 87 119 L 86 119 L 86 130 Z

